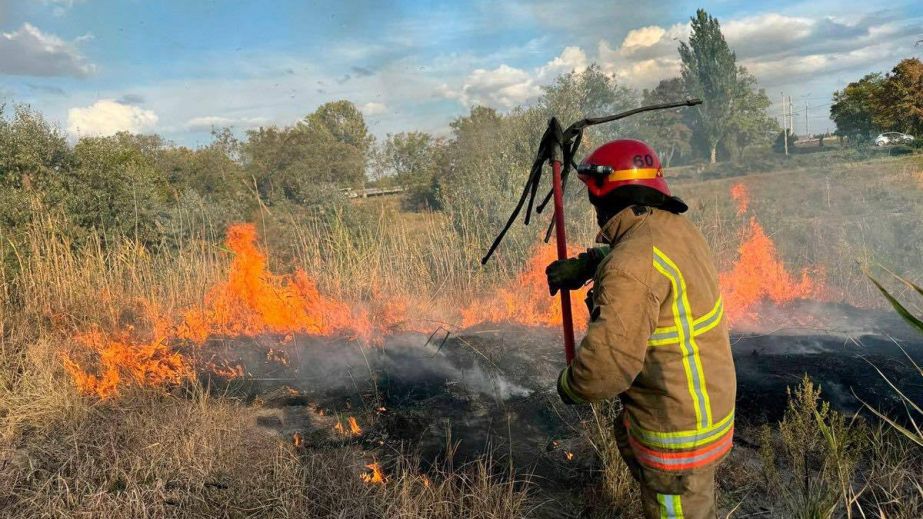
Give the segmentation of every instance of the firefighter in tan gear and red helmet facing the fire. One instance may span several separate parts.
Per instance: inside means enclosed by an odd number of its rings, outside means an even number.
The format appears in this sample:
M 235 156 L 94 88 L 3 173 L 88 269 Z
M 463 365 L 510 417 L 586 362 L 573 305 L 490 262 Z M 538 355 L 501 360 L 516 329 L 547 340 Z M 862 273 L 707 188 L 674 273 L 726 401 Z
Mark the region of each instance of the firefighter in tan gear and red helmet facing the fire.
M 558 393 L 567 404 L 620 396 L 615 436 L 646 517 L 714 518 L 737 384 L 711 251 L 644 142 L 604 144 L 577 173 L 605 246 L 546 270 L 552 293 L 593 279 L 590 324 Z

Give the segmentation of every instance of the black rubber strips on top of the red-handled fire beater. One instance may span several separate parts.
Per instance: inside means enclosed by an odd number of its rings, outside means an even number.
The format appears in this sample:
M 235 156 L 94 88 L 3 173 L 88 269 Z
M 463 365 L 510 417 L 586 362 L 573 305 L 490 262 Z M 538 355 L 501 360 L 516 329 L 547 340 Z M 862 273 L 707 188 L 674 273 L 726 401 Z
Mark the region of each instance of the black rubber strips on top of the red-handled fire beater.
M 538 153 L 535 156 L 535 160 L 532 162 L 532 169 L 529 172 L 529 178 L 526 180 L 526 185 L 522 190 L 522 195 L 519 197 L 519 202 L 517 202 L 516 207 L 513 208 L 513 213 L 510 214 L 510 218 L 507 220 L 506 225 L 503 226 L 500 234 L 497 235 L 493 244 L 491 244 L 490 248 L 487 249 L 487 254 L 485 254 L 481 259 L 481 265 L 486 264 L 487 260 L 493 256 L 494 251 L 497 250 L 500 242 L 503 241 L 503 237 L 506 236 L 507 231 L 510 230 L 510 227 L 513 226 L 513 222 L 516 221 L 516 218 L 522 211 L 523 205 L 526 205 L 527 200 L 528 205 L 526 206 L 526 216 L 524 219 L 525 225 L 529 225 L 529 222 L 532 219 L 533 208 L 535 209 L 536 213 L 541 213 L 545 209 L 545 206 L 548 205 L 548 202 L 551 200 L 552 196 L 551 190 L 548 191 L 548 194 L 545 195 L 541 203 L 539 203 L 537 207 L 535 206 L 535 196 L 538 194 L 538 186 L 542 178 L 542 170 L 545 167 L 545 163 L 560 157 L 561 164 L 563 166 L 563 169 L 561 170 L 562 188 L 567 186 L 568 174 L 572 168 L 577 168 L 577 164 L 574 162 L 574 155 L 577 153 L 577 150 L 580 149 L 580 142 L 583 140 L 583 130 L 590 126 L 617 121 L 619 119 L 624 119 L 626 117 L 642 112 L 666 110 L 668 108 L 679 108 L 682 106 L 695 106 L 701 103 L 701 99 L 686 99 L 685 101 L 678 101 L 674 103 L 642 106 L 615 115 L 588 117 L 586 119 L 581 119 L 568 126 L 567 129 L 562 129 L 561 123 L 558 121 L 558 119 L 556 117 L 552 117 L 548 121 L 548 128 L 542 135 L 542 140 L 539 142 Z M 551 219 L 551 224 L 548 226 L 548 231 L 545 233 L 546 243 L 551 237 L 551 232 L 553 229 L 554 218 Z

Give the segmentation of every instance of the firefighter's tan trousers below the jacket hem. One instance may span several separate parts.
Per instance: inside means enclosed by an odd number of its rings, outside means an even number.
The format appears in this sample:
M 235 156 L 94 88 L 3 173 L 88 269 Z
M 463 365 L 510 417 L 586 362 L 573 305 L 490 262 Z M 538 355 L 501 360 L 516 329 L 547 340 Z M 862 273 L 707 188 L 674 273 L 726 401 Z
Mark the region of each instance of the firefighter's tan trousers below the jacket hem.
M 616 421 L 615 438 L 631 475 L 641 485 L 641 506 L 648 519 L 715 519 L 715 468 L 717 464 L 683 474 L 670 474 L 638 463 L 622 417 Z

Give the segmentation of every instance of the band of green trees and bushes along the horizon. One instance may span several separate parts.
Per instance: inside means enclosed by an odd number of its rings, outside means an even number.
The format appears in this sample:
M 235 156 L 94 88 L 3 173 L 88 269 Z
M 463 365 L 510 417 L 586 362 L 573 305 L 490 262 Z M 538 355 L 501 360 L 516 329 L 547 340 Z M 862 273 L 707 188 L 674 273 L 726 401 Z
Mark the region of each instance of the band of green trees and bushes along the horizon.
M 482 240 L 508 214 L 506 206 L 521 188 L 549 117 L 569 124 L 686 97 L 704 103 L 593 127 L 584 151 L 631 136 L 650 142 L 665 164 L 677 165 L 739 159 L 747 150 L 768 149 L 780 132 L 766 112 L 769 99 L 737 64 L 718 20 L 697 11 L 689 41 L 677 52 L 680 76 L 654 88 L 629 88 L 593 64 L 557 77 L 528 106 L 506 113 L 475 106 L 451 122 L 446 137 L 410 131 L 376 142 L 361 111 L 340 100 L 290 126 L 243 135 L 216 129 L 213 141 L 196 149 L 127 133 L 70 144 L 30 108 L 0 108 L 0 232 L 15 237 L 36 208 L 44 208 L 62 215 L 66 232 L 78 242 L 95 232 L 173 246 L 190 229 L 220 229 L 229 221 L 265 214 L 343 214 L 340 190 L 371 182 L 407 187 L 408 209 L 443 210 L 460 233 Z M 906 116 L 903 104 L 885 110 L 883 100 L 909 95 L 905 78 L 918 80 L 919 61 L 908 63 L 917 68 L 904 66 L 863 80 L 863 85 L 881 83 L 876 99 L 882 101 L 874 105 L 879 108 L 869 116 L 870 124 Z M 850 85 L 838 95 L 851 100 L 854 90 Z

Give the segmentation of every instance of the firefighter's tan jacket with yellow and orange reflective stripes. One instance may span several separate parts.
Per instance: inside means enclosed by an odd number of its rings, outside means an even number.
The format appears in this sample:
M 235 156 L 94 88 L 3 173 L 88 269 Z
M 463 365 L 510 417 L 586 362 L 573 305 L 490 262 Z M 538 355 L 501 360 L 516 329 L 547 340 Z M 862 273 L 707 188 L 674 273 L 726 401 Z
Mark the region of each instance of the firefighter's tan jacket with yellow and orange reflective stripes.
M 603 227 L 591 321 L 562 389 L 574 400 L 621 395 L 642 465 L 687 472 L 731 448 L 737 387 L 718 273 L 684 216 L 629 207 Z

